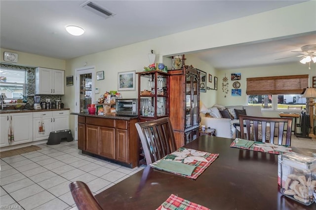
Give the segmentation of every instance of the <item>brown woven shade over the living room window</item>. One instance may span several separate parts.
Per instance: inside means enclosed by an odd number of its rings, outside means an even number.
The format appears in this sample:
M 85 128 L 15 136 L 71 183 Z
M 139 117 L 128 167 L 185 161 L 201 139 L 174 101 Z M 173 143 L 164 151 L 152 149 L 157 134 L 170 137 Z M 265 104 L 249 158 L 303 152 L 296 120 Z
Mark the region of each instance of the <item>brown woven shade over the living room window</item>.
M 309 74 L 247 78 L 247 95 L 301 94 Z

